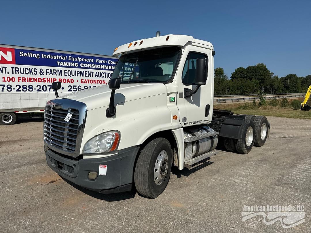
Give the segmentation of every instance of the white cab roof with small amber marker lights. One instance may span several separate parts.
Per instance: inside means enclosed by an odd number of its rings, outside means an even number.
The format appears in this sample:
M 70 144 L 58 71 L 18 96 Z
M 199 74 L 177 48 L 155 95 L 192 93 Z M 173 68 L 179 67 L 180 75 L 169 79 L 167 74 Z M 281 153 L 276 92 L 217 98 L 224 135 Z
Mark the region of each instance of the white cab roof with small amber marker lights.
M 192 36 L 169 34 L 164 36 L 152 37 L 148 39 L 135 40 L 131 43 L 123 44 L 115 48 L 113 56 L 118 57 L 122 53 L 134 52 L 147 48 L 158 48 L 161 46 L 183 47 L 188 42 L 203 44 L 213 49 L 213 45 L 210 42 L 194 39 Z

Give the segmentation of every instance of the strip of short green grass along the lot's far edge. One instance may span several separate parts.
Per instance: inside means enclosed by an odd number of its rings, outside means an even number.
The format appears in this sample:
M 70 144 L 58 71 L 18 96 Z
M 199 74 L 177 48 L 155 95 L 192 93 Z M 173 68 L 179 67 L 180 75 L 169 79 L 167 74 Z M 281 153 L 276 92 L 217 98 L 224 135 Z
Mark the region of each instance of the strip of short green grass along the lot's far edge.
M 292 109 L 254 109 L 254 110 L 234 110 L 236 114 L 248 114 L 248 115 L 261 115 L 261 116 L 271 116 L 271 117 L 289 117 L 296 119 L 311 119 L 310 111 L 292 110 Z

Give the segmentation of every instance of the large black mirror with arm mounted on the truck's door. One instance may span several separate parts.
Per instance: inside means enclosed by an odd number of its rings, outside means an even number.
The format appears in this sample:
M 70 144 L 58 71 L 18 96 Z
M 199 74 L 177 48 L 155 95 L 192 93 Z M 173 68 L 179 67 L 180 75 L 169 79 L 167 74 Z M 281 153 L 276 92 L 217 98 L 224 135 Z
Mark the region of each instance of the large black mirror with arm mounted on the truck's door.
M 193 90 L 185 88 L 183 89 L 183 98 L 188 99 L 190 98 L 193 94 L 197 92 L 199 87 L 201 85 L 206 84 L 207 80 L 207 58 L 197 58 L 197 67 L 196 67 L 196 73 L 195 73 L 195 79 L 196 82 L 194 83 L 197 85 Z

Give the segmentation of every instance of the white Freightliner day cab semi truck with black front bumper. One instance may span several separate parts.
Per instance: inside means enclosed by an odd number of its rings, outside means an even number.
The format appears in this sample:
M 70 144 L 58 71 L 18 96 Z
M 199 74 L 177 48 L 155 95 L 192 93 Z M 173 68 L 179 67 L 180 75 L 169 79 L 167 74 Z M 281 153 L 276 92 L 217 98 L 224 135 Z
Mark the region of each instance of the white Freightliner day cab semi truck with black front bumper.
M 219 139 L 244 154 L 265 143 L 266 117 L 213 109 L 213 45 L 159 34 L 114 50 L 119 60 L 109 86 L 46 104 L 46 160 L 61 177 L 100 193 L 135 187 L 156 198 L 172 166 L 206 161 Z

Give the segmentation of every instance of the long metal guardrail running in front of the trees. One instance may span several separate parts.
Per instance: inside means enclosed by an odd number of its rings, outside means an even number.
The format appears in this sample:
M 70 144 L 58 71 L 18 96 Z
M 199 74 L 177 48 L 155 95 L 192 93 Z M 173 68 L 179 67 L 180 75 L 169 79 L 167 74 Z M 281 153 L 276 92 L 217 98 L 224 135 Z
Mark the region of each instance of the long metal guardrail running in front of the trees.
M 252 102 L 252 101 L 258 101 L 260 98 L 258 95 L 247 95 L 248 97 L 239 97 L 239 98 L 214 98 L 214 102 L 216 103 L 233 103 L 233 102 Z M 277 95 L 269 95 L 269 96 L 263 96 L 264 99 L 284 99 L 284 98 L 304 98 L 305 94 L 277 94 Z

